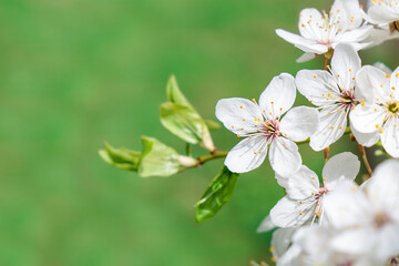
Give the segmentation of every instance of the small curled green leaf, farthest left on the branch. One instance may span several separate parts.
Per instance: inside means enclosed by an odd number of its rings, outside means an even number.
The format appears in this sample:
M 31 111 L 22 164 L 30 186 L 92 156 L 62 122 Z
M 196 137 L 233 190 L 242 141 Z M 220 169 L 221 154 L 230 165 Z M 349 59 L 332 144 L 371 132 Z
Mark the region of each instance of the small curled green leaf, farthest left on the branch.
M 100 156 L 109 164 L 121 170 L 137 172 L 141 153 L 121 147 L 115 149 L 105 142 L 105 149 L 99 151 Z

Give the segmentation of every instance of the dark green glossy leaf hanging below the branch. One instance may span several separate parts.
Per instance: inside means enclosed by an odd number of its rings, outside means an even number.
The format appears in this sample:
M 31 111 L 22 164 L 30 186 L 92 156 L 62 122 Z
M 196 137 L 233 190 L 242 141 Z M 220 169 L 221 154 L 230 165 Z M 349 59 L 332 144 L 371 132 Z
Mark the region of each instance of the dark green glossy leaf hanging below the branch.
M 229 202 L 237 184 L 238 174 L 232 173 L 226 166 L 212 181 L 200 202 L 196 204 L 195 222 L 215 216 L 222 207 Z

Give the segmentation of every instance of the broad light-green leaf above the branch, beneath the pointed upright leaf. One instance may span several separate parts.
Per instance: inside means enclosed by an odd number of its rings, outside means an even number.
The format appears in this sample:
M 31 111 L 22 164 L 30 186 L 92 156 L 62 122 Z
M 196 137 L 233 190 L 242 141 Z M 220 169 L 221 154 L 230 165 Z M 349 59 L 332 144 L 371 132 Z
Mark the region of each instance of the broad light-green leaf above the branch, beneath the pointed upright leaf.
M 207 130 L 197 112 L 172 102 L 161 105 L 161 123 L 173 134 L 191 144 L 200 143 Z

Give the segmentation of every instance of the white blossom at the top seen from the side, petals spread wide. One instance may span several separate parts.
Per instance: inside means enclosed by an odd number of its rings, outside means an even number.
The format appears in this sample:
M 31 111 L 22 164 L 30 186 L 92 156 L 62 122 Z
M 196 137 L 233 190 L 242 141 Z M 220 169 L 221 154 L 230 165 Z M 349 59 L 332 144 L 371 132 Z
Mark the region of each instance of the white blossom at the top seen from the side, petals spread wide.
M 368 37 L 371 25 L 361 25 L 362 16 L 358 0 L 336 0 L 329 12 L 320 13 L 316 9 L 304 9 L 299 14 L 300 35 L 285 30 L 276 33 L 305 52 L 297 62 L 305 62 L 315 54 L 324 54 L 338 43 L 351 43 L 356 50 L 368 45 L 361 41 Z

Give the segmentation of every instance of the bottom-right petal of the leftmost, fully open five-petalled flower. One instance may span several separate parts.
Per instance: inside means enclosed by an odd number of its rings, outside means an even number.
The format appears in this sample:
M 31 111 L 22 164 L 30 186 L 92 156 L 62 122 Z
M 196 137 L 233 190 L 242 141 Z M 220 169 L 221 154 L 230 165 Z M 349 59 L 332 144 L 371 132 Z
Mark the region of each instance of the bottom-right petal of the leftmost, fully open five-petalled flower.
M 269 161 L 273 170 L 282 176 L 295 173 L 301 164 L 298 146 L 290 140 L 280 136 L 272 141 Z

